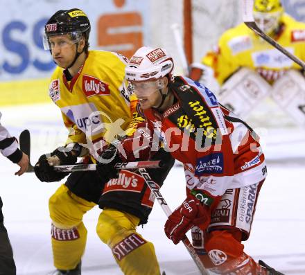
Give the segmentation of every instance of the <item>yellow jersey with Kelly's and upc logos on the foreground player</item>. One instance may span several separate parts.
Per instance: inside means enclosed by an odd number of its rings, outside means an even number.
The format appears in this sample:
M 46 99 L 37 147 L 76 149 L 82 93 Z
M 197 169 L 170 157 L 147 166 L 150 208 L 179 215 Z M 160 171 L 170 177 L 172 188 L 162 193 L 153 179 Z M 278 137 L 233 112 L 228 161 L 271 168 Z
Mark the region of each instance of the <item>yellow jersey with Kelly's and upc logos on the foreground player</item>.
M 85 64 L 71 81 L 57 67 L 51 77 L 49 96 L 60 107 L 69 129 L 67 143 L 80 143 L 94 156 L 132 120 L 130 96 L 123 89 L 123 55 L 109 51 L 89 51 Z

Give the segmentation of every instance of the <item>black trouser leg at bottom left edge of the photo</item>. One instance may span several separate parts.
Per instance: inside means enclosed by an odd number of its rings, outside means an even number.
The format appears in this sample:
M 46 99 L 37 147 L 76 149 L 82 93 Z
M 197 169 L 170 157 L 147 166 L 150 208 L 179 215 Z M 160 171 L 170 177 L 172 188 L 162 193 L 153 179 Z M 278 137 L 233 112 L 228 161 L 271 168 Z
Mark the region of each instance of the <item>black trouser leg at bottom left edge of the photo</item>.
M 8 232 L 3 224 L 2 200 L 0 197 L 0 275 L 16 275 L 16 266 L 12 258 L 12 247 Z

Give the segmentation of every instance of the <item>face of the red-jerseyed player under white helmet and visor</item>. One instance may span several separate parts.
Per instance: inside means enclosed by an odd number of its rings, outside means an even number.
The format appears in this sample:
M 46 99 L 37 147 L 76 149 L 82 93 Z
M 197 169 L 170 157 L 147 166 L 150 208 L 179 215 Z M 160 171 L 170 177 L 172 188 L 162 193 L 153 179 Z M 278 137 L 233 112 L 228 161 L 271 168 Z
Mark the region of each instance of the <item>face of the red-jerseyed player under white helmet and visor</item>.
M 162 96 L 159 92 L 164 88 L 162 80 L 146 81 L 146 82 L 130 82 L 132 91 L 139 99 L 142 109 L 156 107 L 161 103 Z

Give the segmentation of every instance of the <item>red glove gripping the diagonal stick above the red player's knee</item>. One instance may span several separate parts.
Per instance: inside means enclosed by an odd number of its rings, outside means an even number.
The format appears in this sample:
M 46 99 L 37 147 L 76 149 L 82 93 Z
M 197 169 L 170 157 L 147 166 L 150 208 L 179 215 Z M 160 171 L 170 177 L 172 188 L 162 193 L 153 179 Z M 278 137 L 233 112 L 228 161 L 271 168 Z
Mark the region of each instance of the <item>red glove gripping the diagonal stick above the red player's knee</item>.
M 189 229 L 195 225 L 200 225 L 200 229 L 207 228 L 210 220 L 208 207 L 203 206 L 193 195 L 188 195 L 184 202 L 168 217 L 164 231 L 167 238 L 177 245 Z

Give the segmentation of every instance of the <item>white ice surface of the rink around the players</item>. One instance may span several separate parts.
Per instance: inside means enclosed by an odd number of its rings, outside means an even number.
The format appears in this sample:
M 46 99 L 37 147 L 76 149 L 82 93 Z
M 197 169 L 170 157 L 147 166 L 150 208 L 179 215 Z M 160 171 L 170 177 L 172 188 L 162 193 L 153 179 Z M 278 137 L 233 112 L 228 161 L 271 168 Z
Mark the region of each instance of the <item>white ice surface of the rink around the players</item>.
M 32 162 L 51 152 L 67 134 L 60 112 L 53 105 L 1 108 L 1 123 L 18 136 L 21 130 L 32 134 Z M 268 178 L 263 185 L 250 239 L 245 251 L 256 260 L 265 260 L 284 274 L 305 274 L 305 130 L 256 129 L 268 163 Z M 18 275 L 44 275 L 53 269 L 48 199 L 59 183 L 41 183 L 33 174 L 14 176 L 17 166 L 0 157 L 0 195 Z M 164 195 L 174 209 L 184 199 L 184 175 L 180 166 L 171 170 Z M 85 215 L 88 229 L 87 249 L 82 274 L 122 274 L 110 249 L 95 232 L 100 209 Z M 155 204 L 149 222 L 139 233 L 155 245 L 157 258 L 167 275 L 198 274 L 181 243 L 173 245 L 164 235 L 166 216 Z

